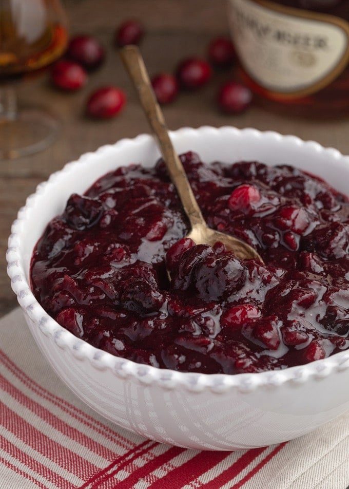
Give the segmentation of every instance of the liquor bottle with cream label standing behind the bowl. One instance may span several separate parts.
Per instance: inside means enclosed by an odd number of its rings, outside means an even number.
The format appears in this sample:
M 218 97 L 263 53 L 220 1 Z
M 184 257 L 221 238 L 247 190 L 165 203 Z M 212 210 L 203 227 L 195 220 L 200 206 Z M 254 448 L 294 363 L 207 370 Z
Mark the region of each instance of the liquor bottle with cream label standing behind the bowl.
M 349 115 L 349 0 L 228 0 L 242 77 L 299 115 Z

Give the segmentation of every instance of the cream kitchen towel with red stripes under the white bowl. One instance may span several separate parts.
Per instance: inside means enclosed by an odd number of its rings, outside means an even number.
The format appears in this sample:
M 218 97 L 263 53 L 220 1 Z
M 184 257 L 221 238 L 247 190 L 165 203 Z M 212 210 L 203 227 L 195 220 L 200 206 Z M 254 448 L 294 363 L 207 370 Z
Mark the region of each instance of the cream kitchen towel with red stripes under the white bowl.
M 279 445 L 163 445 L 97 415 L 61 383 L 22 312 L 0 321 L 0 489 L 346 489 L 349 413 Z M 345 387 L 346 388 L 346 387 Z

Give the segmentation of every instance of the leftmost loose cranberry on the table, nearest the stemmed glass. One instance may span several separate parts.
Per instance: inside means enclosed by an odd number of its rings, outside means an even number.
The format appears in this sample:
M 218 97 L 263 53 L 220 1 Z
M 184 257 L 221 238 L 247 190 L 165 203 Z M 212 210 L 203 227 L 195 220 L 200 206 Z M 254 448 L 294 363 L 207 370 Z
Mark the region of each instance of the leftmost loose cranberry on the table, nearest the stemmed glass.
M 62 90 L 75 91 L 82 88 L 87 81 L 84 68 L 72 61 L 57 61 L 51 71 L 53 85 Z

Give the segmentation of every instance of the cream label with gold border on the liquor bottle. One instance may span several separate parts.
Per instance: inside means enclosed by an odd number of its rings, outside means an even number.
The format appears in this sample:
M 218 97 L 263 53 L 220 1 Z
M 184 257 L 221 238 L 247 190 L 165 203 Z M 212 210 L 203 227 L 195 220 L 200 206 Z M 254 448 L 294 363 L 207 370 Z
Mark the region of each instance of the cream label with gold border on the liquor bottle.
M 349 62 L 349 23 L 265 0 L 228 0 L 232 38 L 247 74 L 285 97 L 331 83 Z

